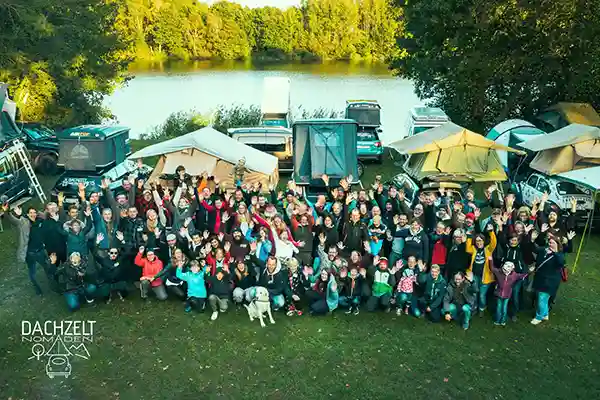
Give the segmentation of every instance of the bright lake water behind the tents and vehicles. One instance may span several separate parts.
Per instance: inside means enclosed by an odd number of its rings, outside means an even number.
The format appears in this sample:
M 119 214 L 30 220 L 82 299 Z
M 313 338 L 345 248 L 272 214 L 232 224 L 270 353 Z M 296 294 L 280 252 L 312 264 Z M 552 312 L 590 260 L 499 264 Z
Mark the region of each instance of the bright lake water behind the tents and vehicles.
M 135 78 L 109 96 L 105 104 L 131 136 L 150 131 L 173 112 L 196 110 L 210 114 L 219 105 L 260 105 L 263 78 L 291 79 L 292 107 L 343 111 L 349 99 L 377 100 L 381 107 L 384 143 L 404 136 L 411 107 L 421 104 L 410 81 L 391 75 L 385 66 L 289 64 L 255 67 L 248 63 L 210 62 L 142 66 Z

